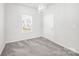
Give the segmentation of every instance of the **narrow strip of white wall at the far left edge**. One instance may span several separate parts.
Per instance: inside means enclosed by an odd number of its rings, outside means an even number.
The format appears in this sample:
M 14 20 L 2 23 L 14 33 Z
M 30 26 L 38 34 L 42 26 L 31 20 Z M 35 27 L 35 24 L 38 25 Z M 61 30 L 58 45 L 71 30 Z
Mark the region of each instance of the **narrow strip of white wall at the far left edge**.
M 5 45 L 4 37 L 4 4 L 0 3 L 0 54 Z

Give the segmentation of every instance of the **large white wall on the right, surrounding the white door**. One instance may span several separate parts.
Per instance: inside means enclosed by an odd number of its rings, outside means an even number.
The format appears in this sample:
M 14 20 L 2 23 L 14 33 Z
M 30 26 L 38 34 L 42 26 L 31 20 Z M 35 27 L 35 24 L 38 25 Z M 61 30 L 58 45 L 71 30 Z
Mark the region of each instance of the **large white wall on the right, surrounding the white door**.
M 54 20 L 54 27 L 50 28 L 50 31 L 54 35 L 44 33 L 44 37 L 79 52 L 79 4 L 53 4 L 44 12 L 44 16 L 50 14 L 53 15 L 51 20 Z M 45 19 L 47 17 L 44 17 Z M 44 21 L 43 23 L 46 24 L 47 22 Z M 46 28 L 45 25 L 44 28 Z

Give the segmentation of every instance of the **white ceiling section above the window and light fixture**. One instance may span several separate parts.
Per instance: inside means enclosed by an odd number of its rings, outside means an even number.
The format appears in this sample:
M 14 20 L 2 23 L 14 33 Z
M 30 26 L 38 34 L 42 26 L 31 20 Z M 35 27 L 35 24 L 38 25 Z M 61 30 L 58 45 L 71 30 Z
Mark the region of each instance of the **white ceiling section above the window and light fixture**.
M 52 3 L 20 3 L 21 5 L 37 9 L 39 5 L 50 6 Z

